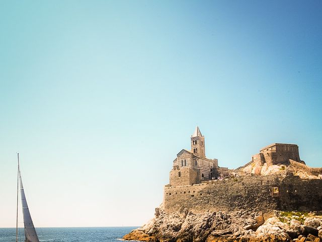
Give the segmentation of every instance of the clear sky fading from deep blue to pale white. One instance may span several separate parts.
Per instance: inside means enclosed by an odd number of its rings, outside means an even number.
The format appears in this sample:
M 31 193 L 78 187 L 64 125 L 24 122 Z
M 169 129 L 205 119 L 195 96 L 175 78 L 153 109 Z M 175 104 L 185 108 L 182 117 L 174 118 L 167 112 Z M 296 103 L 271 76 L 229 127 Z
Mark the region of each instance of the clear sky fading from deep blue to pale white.
M 1 1 L 0 227 L 140 226 L 198 125 L 322 167 L 321 1 Z M 19 212 L 19 225 L 23 226 Z

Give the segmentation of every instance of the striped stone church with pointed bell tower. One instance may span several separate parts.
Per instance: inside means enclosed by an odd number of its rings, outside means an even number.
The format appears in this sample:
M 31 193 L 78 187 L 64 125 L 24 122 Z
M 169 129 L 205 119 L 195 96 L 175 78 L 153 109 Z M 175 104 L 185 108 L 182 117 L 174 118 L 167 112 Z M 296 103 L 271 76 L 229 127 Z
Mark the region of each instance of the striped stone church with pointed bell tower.
M 186 186 L 217 177 L 218 160 L 206 158 L 205 137 L 199 127 L 190 138 L 191 150 L 181 150 L 173 161 L 170 186 Z

